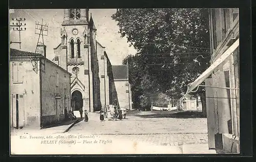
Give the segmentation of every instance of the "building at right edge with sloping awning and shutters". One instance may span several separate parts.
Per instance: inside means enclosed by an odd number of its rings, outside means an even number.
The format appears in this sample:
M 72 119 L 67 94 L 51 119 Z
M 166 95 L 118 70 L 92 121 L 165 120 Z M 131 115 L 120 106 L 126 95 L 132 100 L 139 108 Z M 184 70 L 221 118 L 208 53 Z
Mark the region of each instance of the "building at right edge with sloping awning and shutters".
M 210 67 L 188 85 L 205 80 L 209 149 L 240 152 L 239 9 L 209 9 Z

